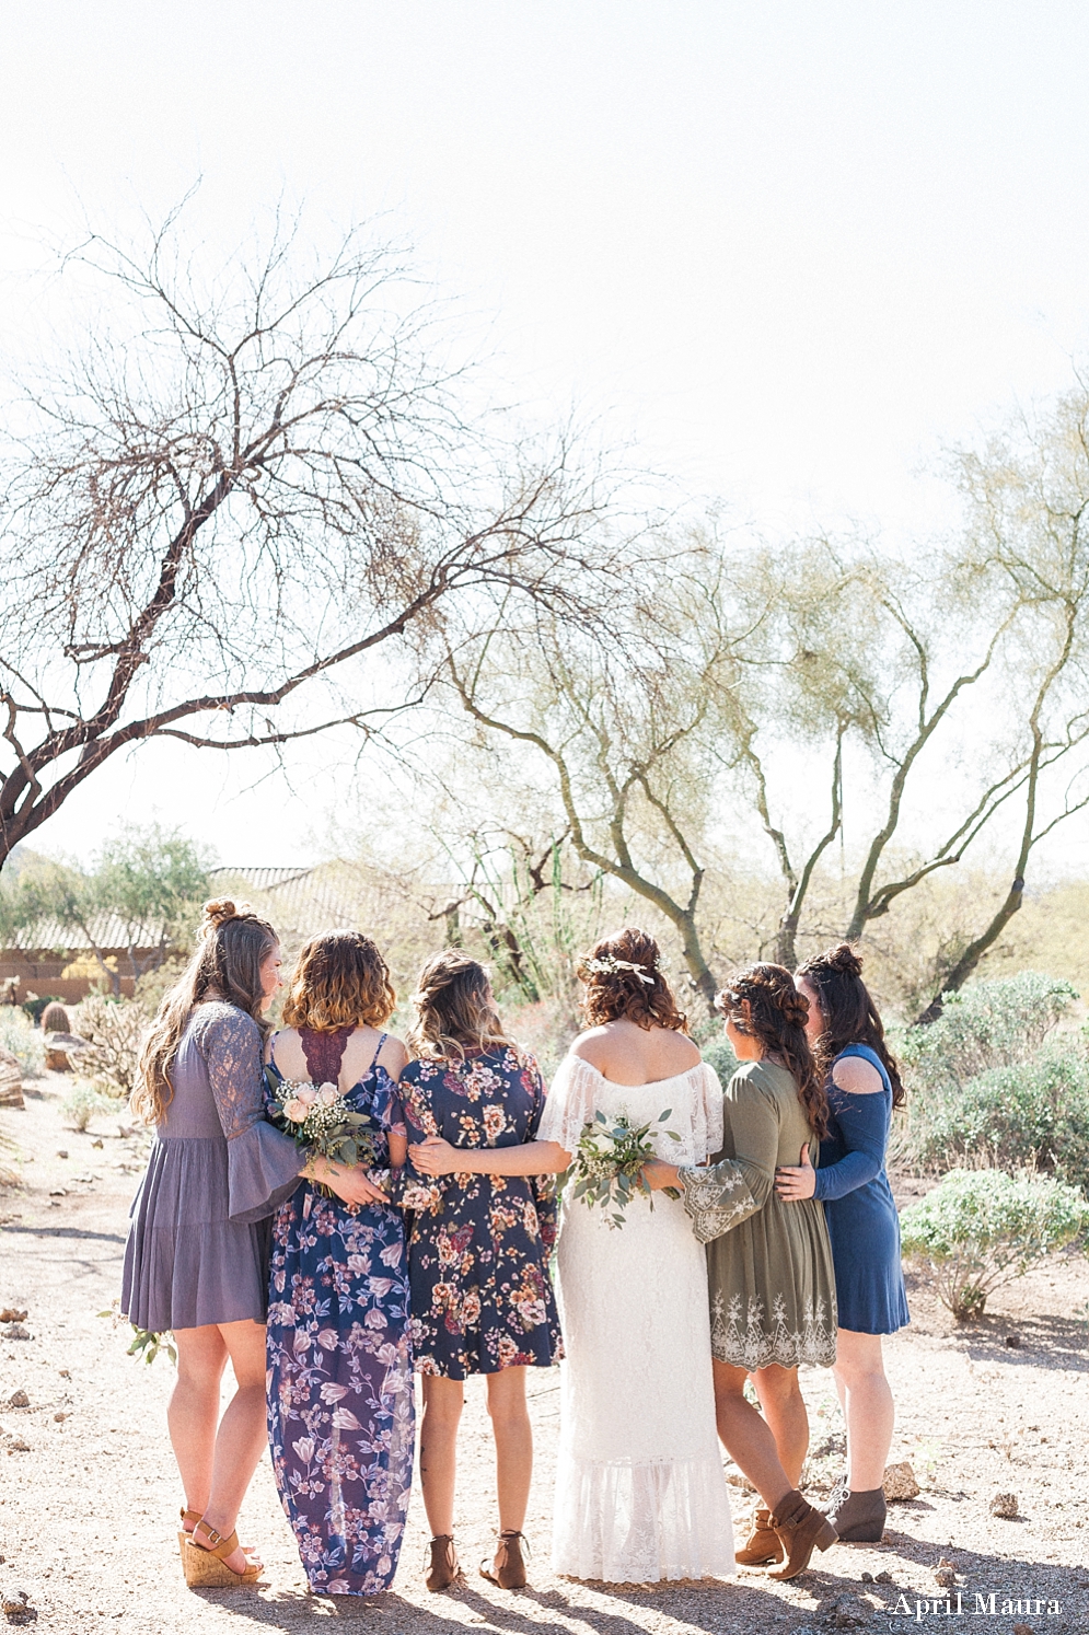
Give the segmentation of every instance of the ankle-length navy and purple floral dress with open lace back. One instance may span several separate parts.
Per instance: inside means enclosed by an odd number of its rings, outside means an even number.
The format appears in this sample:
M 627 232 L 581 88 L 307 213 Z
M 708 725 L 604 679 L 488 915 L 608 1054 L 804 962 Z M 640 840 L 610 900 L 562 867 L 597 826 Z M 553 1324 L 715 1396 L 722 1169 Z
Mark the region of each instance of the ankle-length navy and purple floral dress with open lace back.
M 299 1030 L 314 1084 L 337 1082 L 350 1033 Z M 384 1068 L 371 1063 L 347 1100 L 383 1131 L 406 1133 Z M 386 1136 L 378 1162 L 389 1162 Z M 397 1570 L 415 1440 L 407 1329 L 401 1212 L 376 1203 L 350 1213 L 304 1180 L 273 1226 L 268 1440 L 280 1498 L 319 1594 L 373 1596 Z

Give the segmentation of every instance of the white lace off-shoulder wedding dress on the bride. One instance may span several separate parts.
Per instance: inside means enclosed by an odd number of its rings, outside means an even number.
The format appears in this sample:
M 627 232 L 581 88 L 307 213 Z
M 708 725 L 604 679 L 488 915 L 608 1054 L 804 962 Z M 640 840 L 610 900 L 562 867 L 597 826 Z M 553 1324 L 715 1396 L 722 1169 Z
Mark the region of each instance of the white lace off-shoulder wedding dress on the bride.
M 659 1158 L 701 1164 L 723 1144 L 723 1092 L 706 1064 L 613 1084 L 567 1056 L 538 1140 L 574 1151 L 597 1110 L 670 1117 Z M 670 1141 L 666 1128 L 682 1138 Z M 561 1427 L 553 1566 L 613 1584 L 726 1578 L 734 1535 L 715 1432 L 706 1259 L 680 1200 L 634 1198 L 625 1225 L 564 1202 L 559 1226 Z

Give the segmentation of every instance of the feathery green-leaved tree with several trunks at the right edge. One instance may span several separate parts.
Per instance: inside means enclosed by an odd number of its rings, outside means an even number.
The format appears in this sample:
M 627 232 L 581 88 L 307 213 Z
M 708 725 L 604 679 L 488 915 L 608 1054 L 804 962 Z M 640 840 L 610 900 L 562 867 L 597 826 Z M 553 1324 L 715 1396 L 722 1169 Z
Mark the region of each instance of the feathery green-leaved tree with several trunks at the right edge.
M 1035 849 L 1089 804 L 1086 448 L 1079 391 L 958 456 L 966 525 L 952 544 L 896 561 L 818 540 L 751 553 L 728 576 L 752 636 L 723 760 L 773 847 L 783 965 L 845 804 L 854 860 L 826 935 L 862 937 L 994 837 L 1009 886 L 950 937 L 932 1020 L 1020 907 Z M 818 798 L 798 801 L 800 768 Z

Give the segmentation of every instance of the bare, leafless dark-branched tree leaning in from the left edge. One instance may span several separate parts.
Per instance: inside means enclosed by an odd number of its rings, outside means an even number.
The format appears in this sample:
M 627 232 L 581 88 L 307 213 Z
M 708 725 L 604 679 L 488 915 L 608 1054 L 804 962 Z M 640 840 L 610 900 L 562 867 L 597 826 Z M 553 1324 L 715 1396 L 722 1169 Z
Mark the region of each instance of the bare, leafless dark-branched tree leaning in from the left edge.
M 105 316 L 7 437 L 0 865 L 126 746 L 378 732 L 438 631 L 589 616 L 607 571 L 594 474 L 463 410 L 396 250 L 276 226 L 204 276 L 183 224 L 67 258 Z

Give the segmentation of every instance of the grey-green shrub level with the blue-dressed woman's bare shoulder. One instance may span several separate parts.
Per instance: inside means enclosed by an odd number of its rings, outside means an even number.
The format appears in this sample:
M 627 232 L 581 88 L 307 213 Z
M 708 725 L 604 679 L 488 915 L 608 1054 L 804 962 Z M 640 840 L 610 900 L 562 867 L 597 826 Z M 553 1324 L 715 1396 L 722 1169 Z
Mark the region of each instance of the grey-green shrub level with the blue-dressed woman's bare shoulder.
M 991 1068 L 1027 1061 L 1076 997 L 1069 983 L 1038 971 L 970 983 L 948 994 L 937 1022 L 903 1035 L 909 1089 L 963 1089 Z

